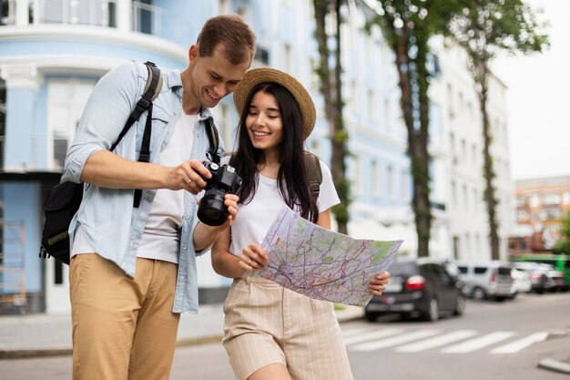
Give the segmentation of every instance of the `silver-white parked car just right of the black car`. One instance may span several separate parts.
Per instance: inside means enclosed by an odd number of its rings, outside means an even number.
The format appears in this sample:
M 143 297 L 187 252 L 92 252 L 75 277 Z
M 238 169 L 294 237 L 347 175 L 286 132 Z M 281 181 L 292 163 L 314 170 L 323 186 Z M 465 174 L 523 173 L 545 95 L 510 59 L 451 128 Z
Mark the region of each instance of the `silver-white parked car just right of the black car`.
M 462 272 L 463 292 L 473 300 L 504 301 L 516 296 L 511 267 L 506 262 L 457 261 L 455 264 Z

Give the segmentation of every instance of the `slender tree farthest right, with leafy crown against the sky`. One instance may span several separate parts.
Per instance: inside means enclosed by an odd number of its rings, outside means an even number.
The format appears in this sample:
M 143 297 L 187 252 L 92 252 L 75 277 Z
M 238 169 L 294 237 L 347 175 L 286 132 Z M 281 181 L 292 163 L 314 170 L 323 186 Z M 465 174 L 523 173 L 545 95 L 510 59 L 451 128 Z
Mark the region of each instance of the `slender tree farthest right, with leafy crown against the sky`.
M 532 9 L 522 0 L 461 0 L 463 9 L 455 13 L 449 23 L 449 33 L 470 57 L 469 68 L 479 99 L 483 132 L 484 202 L 489 223 L 491 255 L 499 259 L 499 223 L 494 188 L 494 162 L 491 154 L 493 132 L 489 120 L 490 65 L 499 52 L 528 54 L 540 52 L 548 45 L 548 38 L 539 29 Z

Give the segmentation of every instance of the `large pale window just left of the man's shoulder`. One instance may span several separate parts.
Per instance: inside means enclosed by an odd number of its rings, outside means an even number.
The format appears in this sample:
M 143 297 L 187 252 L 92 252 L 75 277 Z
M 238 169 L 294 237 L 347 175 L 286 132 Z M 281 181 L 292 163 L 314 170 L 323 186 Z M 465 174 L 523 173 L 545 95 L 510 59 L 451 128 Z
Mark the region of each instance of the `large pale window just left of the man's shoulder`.
M 63 167 L 67 148 L 76 134 L 79 118 L 94 86 L 94 81 L 74 78 L 48 82 L 47 128 L 50 144 L 47 153 L 51 169 Z

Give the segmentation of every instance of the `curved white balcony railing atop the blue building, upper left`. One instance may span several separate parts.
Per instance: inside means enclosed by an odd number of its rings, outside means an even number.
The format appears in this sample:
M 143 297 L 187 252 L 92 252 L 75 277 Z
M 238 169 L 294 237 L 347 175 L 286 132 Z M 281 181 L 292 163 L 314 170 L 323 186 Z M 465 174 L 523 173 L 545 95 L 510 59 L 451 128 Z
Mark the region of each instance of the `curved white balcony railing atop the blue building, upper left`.
M 26 9 L 19 9 L 26 6 Z M 0 0 L 0 26 L 64 24 L 111 27 L 177 41 L 188 21 L 163 8 L 130 0 Z

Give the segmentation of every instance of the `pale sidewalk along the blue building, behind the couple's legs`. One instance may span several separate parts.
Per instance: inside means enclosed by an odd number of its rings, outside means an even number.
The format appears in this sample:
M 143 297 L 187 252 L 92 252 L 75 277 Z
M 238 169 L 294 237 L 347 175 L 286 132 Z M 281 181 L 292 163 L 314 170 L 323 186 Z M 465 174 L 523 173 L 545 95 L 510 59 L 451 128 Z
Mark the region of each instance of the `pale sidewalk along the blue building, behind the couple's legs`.
M 339 322 L 360 318 L 362 309 L 345 306 L 337 310 Z M 182 313 L 178 346 L 220 342 L 224 313 L 221 304 L 201 305 L 199 313 Z M 0 360 L 71 354 L 69 314 L 0 316 Z

